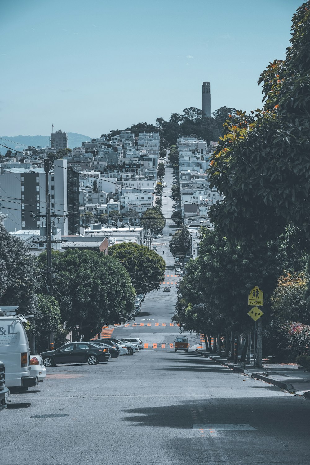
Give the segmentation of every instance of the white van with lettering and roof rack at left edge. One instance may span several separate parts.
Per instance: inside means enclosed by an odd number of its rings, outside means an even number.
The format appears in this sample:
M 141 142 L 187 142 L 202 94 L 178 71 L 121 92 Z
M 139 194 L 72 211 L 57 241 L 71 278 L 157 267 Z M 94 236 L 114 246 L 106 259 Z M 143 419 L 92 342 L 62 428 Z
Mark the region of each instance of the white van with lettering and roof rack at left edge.
M 27 320 L 23 315 L 7 313 L 11 312 L 0 313 L 0 360 L 6 367 L 5 385 L 27 390 L 38 384 L 37 377 L 30 376 L 29 342 L 23 326 Z

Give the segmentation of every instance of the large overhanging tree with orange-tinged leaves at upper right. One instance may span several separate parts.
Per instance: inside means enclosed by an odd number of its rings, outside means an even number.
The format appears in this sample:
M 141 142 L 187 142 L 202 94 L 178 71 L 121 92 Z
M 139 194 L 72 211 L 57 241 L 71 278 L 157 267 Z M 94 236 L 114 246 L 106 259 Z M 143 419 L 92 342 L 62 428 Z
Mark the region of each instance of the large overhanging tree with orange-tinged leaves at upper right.
M 224 199 L 211 218 L 237 242 L 276 239 L 290 224 L 310 239 L 310 1 L 292 20 L 284 61 L 262 73 L 264 108 L 238 112 L 211 160 Z

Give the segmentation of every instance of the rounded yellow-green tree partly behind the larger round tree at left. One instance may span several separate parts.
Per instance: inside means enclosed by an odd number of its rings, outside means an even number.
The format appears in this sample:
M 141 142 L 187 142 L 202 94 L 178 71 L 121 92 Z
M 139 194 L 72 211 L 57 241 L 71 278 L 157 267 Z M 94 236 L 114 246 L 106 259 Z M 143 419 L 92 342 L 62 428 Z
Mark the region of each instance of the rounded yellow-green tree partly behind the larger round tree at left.
M 165 260 L 148 247 L 124 242 L 110 247 L 109 254 L 125 267 L 137 294 L 158 290 L 165 278 Z

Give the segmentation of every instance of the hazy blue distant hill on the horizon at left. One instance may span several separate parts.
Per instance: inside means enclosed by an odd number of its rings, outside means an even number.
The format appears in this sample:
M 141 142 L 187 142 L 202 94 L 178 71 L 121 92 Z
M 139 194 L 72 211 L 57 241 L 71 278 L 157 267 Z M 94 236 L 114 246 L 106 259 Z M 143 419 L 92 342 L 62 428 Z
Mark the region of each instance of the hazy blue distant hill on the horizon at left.
M 0 144 L 7 145 L 12 150 L 20 150 L 26 148 L 27 146 L 49 146 L 50 138 L 49 136 L 0 136 L 3 141 L 0 139 Z M 82 142 L 90 141 L 91 137 L 83 136 L 83 134 L 78 133 L 68 133 L 68 146 L 69 148 L 80 147 Z M 22 145 L 20 145 L 22 144 Z M 25 147 L 26 146 L 26 147 Z M 0 147 L 0 152 L 2 155 L 6 153 L 7 149 Z

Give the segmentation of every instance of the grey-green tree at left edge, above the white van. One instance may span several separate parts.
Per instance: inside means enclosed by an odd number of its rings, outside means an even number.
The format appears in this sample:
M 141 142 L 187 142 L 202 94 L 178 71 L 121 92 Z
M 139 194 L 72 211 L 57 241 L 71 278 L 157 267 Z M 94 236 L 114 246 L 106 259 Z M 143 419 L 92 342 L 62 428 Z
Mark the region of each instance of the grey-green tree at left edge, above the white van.
M 24 241 L 9 234 L 0 222 L 0 306 L 19 306 L 21 313 L 36 312 L 36 260 Z

